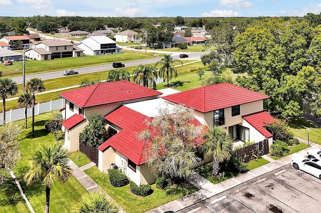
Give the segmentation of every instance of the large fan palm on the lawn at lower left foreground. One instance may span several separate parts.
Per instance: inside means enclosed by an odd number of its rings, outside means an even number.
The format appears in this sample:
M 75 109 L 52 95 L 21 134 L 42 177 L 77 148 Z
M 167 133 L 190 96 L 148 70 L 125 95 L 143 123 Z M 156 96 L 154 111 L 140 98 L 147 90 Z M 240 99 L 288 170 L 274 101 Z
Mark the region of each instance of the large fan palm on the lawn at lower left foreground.
M 70 152 L 61 144 L 43 144 L 30 159 L 31 167 L 24 175 L 27 185 L 39 180 L 46 185 L 45 213 L 49 212 L 50 187 L 55 180 L 65 182 L 72 174 L 69 166 Z

